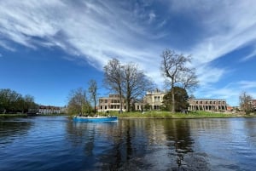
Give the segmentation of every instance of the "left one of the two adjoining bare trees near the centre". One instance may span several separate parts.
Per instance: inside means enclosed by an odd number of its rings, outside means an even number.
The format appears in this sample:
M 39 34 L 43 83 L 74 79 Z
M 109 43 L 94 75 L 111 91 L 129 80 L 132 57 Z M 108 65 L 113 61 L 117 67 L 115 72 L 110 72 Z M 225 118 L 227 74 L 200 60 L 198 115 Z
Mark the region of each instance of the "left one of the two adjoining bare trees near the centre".
M 123 66 L 121 66 L 119 60 L 109 60 L 108 64 L 104 66 L 104 83 L 105 85 L 119 94 L 120 111 L 123 110 Z

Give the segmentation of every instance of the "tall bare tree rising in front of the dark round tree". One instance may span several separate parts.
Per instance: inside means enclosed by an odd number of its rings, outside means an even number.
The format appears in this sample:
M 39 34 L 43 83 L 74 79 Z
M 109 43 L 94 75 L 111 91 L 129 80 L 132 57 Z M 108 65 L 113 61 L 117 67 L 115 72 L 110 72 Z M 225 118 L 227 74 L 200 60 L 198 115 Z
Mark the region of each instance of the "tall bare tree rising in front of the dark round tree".
M 191 62 L 190 56 L 176 54 L 175 51 L 166 49 L 161 54 L 160 71 L 163 76 L 171 82 L 171 89 L 183 87 L 185 89 L 195 88 L 198 84 L 195 69 L 186 66 Z M 175 112 L 175 90 L 172 91 L 172 112 Z

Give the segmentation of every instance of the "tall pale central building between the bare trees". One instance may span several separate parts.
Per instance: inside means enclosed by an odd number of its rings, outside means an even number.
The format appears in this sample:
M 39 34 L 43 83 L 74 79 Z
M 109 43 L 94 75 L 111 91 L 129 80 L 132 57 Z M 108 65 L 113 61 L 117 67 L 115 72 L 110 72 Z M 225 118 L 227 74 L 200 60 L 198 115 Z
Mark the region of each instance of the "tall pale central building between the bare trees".
M 156 89 L 152 92 L 147 92 L 143 102 L 144 104 L 150 105 L 151 110 L 160 110 L 161 106 L 163 105 L 164 96 L 166 92 L 161 92 L 159 89 Z

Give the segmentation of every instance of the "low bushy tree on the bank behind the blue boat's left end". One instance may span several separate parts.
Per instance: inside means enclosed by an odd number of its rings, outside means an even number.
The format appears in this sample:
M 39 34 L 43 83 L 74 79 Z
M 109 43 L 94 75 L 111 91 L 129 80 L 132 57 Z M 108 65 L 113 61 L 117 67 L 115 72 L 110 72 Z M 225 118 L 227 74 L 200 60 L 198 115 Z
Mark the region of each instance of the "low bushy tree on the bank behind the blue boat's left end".
M 86 91 L 83 88 L 77 88 L 71 91 L 68 97 L 67 112 L 69 114 L 90 113 L 92 108 L 86 98 Z

